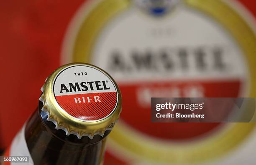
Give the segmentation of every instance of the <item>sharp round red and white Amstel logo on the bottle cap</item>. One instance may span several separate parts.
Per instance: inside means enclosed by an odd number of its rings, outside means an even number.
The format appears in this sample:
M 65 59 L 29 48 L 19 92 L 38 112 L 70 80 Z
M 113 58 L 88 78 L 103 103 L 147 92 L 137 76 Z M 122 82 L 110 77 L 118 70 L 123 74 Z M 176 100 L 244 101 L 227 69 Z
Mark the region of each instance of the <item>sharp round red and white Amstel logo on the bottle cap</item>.
M 118 103 L 113 80 L 90 65 L 71 65 L 61 70 L 54 79 L 53 92 L 65 112 L 84 121 L 108 117 Z

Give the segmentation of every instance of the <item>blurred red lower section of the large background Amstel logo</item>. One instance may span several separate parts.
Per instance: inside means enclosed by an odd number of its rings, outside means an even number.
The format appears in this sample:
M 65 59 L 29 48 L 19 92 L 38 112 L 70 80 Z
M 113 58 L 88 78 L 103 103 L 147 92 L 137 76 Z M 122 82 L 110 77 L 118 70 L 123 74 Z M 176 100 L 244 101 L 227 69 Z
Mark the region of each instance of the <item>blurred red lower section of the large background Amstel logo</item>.
M 241 84 L 242 82 L 237 79 L 141 82 L 119 85 L 123 93 L 123 115 L 121 119 L 139 132 L 154 138 L 166 140 L 194 138 L 214 130 L 220 123 L 153 123 L 150 118 L 150 98 L 238 97 Z M 143 90 L 145 88 L 146 90 Z M 146 97 L 147 99 L 145 99 Z M 133 103 L 131 104 L 131 102 Z M 133 110 L 132 113 L 131 110 Z

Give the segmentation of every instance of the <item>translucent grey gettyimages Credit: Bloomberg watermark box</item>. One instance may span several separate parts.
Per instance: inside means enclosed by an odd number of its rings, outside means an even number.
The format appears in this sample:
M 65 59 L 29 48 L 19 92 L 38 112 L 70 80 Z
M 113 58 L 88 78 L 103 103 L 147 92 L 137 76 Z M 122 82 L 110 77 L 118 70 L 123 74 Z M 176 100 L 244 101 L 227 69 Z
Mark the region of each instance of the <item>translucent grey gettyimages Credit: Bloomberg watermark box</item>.
M 255 122 L 255 98 L 151 98 L 152 122 Z

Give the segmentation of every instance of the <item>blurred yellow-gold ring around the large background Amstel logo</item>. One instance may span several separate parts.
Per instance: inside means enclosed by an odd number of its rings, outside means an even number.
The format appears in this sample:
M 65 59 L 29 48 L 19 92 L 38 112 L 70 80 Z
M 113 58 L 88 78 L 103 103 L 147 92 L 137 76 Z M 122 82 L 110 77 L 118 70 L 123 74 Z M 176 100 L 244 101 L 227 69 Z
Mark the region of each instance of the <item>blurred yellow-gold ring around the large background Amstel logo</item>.
M 250 68 L 250 97 L 256 97 L 256 37 L 251 28 L 235 10 L 221 0 L 185 0 L 184 2 L 188 7 L 200 10 L 217 20 L 234 37 L 246 55 Z M 83 20 L 74 43 L 74 62 L 90 61 L 95 39 L 102 28 L 115 15 L 128 9 L 130 3 L 130 0 L 101 0 L 91 10 Z M 142 138 L 119 122 L 110 134 L 110 142 L 146 161 L 198 163 L 227 153 L 241 143 L 254 128 L 253 123 L 230 123 L 216 135 L 193 143 L 177 144 L 156 143 L 154 140 Z

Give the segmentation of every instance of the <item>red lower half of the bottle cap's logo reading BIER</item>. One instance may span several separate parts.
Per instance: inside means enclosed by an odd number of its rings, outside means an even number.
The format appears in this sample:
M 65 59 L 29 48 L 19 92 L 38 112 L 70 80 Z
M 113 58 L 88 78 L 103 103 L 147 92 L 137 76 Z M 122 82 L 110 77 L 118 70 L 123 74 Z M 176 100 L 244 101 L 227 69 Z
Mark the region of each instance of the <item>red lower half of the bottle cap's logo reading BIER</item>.
M 116 92 L 56 96 L 59 105 L 69 115 L 82 120 L 100 120 L 114 110 Z

